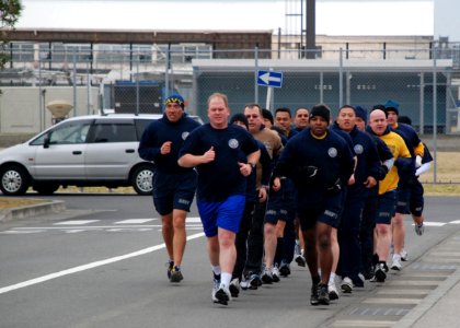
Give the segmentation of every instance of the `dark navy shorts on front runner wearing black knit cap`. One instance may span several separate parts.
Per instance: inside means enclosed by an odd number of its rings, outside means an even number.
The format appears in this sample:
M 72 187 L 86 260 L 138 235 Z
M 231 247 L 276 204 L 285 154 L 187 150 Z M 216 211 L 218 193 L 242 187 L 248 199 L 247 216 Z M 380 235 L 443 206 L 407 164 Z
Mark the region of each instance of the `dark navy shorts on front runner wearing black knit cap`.
M 317 222 L 325 223 L 332 227 L 338 227 L 344 203 L 343 192 L 326 195 L 323 201 L 315 204 L 306 206 L 298 201 L 297 216 L 299 218 L 302 231 L 313 229 Z

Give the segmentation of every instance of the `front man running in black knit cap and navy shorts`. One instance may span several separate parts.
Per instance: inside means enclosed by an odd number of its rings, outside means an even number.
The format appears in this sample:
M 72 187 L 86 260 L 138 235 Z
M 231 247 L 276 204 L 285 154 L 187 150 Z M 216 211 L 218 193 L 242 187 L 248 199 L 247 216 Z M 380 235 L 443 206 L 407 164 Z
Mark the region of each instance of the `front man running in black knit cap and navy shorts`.
M 331 233 L 338 226 L 344 187 L 355 164 L 346 141 L 329 129 L 330 119 L 327 106 L 313 106 L 310 127 L 288 141 L 273 173 L 275 189 L 280 187 L 281 176 L 290 177 L 297 188 L 298 218 L 312 279 L 311 305 L 330 304 Z

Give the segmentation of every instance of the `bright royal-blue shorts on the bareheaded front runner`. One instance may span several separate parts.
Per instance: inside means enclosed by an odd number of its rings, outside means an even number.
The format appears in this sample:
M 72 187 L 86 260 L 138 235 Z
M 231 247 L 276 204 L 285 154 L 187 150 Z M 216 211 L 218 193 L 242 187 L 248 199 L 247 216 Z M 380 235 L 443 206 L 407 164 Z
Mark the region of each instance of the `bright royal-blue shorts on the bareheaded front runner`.
M 239 232 L 245 204 L 244 196 L 233 195 L 225 201 L 215 202 L 198 200 L 196 204 L 207 237 L 216 236 L 218 227 L 235 234 Z

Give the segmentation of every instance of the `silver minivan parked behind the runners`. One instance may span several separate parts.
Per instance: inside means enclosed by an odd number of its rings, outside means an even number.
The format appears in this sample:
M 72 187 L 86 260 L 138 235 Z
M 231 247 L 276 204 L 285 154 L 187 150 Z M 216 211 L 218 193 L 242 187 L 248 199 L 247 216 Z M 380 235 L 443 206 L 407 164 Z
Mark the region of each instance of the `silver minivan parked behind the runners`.
M 154 164 L 140 159 L 137 149 L 146 126 L 161 117 L 113 114 L 68 118 L 0 151 L 0 190 L 20 196 L 30 187 L 51 195 L 60 186 L 133 186 L 139 195 L 151 195 Z

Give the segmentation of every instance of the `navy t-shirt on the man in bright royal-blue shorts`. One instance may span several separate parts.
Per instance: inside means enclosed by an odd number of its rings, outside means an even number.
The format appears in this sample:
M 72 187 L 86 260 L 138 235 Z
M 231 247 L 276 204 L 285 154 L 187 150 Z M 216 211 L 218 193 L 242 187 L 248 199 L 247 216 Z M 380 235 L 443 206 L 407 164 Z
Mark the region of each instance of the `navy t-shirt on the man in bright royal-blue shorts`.
M 179 156 L 203 155 L 211 147 L 216 152 L 215 160 L 196 167 L 197 200 L 222 201 L 229 196 L 244 196 L 246 177 L 240 173 L 238 162 L 246 163 L 248 155 L 258 150 L 257 142 L 241 127 L 231 125 L 214 129 L 210 124 L 205 124 L 188 136 Z

